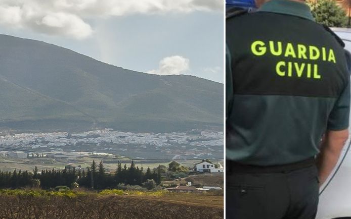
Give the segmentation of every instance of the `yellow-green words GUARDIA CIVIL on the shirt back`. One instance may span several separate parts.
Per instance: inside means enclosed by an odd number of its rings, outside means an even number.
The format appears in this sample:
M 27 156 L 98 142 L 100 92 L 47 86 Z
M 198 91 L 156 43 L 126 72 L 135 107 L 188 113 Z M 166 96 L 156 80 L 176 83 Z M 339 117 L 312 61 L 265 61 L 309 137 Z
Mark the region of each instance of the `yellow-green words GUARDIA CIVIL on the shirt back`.
M 293 58 L 302 61 L 286 62 L 280 61 L 276 65 L 276 73 L 281 77 L 297 77 L 321 79 L 318 72 L 318 64 L 308 63 L 309 61 L 324 61 L 336 63 L 333 49 L 316 47 L 313 45 L 283 44 L 281 41 L 254 41 L 251 44 L 251 51 L 255 56 L 267 56 L 272 54 L 277 57 Z M 306 61 L 303 61 L 306 60 Z

